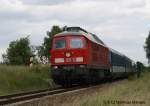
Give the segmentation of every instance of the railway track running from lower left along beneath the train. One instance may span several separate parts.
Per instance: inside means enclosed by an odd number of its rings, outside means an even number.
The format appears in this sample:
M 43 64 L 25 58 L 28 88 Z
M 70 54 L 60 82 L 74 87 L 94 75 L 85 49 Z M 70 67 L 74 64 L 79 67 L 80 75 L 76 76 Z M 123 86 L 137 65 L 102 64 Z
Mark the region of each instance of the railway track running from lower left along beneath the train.
M 115 82 L 118 82 L 120 80 L 115 80 Z M 111 82 L 112 83 L 112 82 Z M 0 96 L 0 106 L 1 105 L 11 105 L 13 103 L 17 102 L 23 102 L 23 101 L 28 101 L 36 98 L 41 98 L 44 96 L 50 96 L 54 94 L 60 94 L 60 93 L 65 93 L 69 91 L 82 91 L 86 90 L 89 88 L 99 88 L 100 86 L 102 87 L 105 84 L 110 84 L 110 82 L 102 82 L 99 84 L 91 85 L 91 86 L 77 86 L 75 85 L 72 88 L 54 88 L 54 89 L 44 89 L 44 90 L 37 90 L 37 91 L 30 91 L 30 92 L 24 92 L 24 93 L 18 93 L 18 94 L 11 94 L 11 95 L 5 95 L 5 96 Z

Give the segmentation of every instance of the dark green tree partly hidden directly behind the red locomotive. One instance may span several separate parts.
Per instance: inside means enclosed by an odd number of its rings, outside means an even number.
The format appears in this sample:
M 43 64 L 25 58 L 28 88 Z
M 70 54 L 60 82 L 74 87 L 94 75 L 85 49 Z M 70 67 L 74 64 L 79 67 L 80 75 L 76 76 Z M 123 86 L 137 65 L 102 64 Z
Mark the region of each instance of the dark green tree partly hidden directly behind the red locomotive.
M 42 46 L 39 46 L 39 55 L 41 56 L 46 56 L 48 59 L 50 57 L 50 49 L 51 49 L 51 41 L 52 41 L 52 37 L 58 33 L 62 32 L 62 29 L 59 26 L 54 25 L 51 28 L 51 31 L 47 31 L 47 36 L 44 38 L 44 43 L 42 44 Z

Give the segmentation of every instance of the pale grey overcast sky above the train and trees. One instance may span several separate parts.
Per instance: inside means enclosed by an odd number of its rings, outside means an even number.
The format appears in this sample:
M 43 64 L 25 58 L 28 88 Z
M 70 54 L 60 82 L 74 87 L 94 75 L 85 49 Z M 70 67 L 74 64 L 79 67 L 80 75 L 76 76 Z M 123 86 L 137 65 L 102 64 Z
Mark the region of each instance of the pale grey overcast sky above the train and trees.
M 10 41 L 30 35 L 32 45 L 41 45 L 53 25 L 67 25 L 80 26 L 147 64 L 143 47 L 150 30 L 150 0 L 0 0 L 0 24 L 0 55 Z

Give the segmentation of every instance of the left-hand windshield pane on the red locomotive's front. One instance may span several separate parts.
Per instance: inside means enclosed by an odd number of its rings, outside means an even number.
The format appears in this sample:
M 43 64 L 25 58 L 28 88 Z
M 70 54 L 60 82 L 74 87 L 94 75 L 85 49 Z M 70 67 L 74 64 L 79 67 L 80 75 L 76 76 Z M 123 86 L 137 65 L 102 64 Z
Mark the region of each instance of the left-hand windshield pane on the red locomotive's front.
M 54 40 L 54 49 L 62 49 L 66 47 L 66 40 L 64 38 L 57 38 Z

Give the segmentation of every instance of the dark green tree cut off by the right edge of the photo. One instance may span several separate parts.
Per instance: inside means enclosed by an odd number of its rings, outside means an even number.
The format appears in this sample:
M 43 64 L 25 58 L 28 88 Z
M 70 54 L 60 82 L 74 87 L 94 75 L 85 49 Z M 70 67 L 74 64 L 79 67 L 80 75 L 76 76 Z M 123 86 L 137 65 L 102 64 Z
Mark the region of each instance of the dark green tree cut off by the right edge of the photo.
M 148 34 L 148 37 L 146 38 L 144 49 L 146 52 L 146 57 L 148 59 L 148 63 L 150 64 L 150 32 Z

